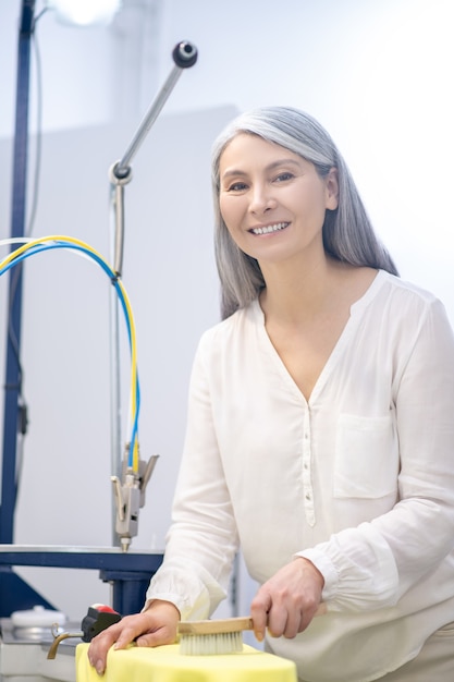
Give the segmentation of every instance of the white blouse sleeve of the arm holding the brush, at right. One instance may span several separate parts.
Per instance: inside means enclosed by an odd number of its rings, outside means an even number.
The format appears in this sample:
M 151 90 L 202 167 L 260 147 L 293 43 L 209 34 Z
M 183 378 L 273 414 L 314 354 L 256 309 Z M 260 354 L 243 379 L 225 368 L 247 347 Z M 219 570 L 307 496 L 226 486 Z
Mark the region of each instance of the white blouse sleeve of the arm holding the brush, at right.
M 370 522 L 298 552 L 324 574 L 330 608 L 393 606 L 454 546 L 454 339 L 438 301 L 418 317 L 412 345 L 397 351 L 398 500 Z M 382 458 L 389 466 L 386 453 Z

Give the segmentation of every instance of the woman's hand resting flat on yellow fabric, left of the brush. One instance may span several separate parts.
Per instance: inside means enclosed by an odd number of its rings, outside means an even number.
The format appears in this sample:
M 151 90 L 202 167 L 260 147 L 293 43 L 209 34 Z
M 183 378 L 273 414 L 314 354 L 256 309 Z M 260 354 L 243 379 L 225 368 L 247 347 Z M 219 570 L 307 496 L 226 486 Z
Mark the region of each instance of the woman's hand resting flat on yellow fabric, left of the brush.
M 88 660 L 98 674 L 103 674 L 108 650 L 124 649 L 131 642 L 137 646 L 173 644 L 180 622 L 180 611 L 170 601 L 154 600 L 142 613 L 125 616 L 91 640 Z

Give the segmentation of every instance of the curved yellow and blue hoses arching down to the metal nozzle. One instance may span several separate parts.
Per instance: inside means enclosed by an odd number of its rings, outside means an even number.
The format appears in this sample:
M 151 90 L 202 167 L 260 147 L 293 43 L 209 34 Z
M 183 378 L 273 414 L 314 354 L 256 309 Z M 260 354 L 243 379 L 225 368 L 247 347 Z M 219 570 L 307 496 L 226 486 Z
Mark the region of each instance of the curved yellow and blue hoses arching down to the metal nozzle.
M 42 236 L 39 239 L 30 239 L 30 238 L 16 238 L 11 240 L 1 240 L 0 245 L 2 244 L 12 244 L 12 243 L 23 243 L 22 246 L 17 247 L 15 251 L 11 252 L 5 258 L 0 260 L 0 276 L 15 267 L 17 264 L 21 264 L 25 258 L 35 255 L 37 253 L 41 253 L 44 251 L 51 251 L 56 248 L 66 248 L 73 249 L 78 255 L 88 256 L 95 263 L 97 263 L 102 270 L 108 275 L 112 285 L 114 287 L 116 294 L 119 296 L 120 303 L 122 305 L 122 309 L 124 313 L 124 318 L 126 322 L 126 330 L 130 341 L 130 350 L 131 350 L 131 406 L 130 406 L 130 427 L 131 427 L 131 440 L 128 448 L 128 461 L 127 466 L 132 468 L 135 473 L 138 472 L 138 415 L 140 409 L 140 390 L 139 390 L 139 380 L 138 380 L 138 372 L 137 372 L 137 342 L 136 342 L 136 330 L 135 330 L 135 321 L 134 315 L 131 307 L 131 302 L 127 295 L 127 292 L 119 278 L 119 276 L 114 272 L 111 266 L 107 263 L 107 260 L 99 254 L 95 248 L 77 240 L 75 238 L 64 236 L 64 235 L 50 235 Z

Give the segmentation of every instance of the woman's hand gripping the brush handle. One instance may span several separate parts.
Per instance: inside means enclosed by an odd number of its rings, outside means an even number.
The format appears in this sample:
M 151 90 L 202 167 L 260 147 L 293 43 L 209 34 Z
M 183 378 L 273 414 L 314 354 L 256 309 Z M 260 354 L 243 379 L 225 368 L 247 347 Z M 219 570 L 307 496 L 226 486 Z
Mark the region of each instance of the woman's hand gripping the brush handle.
M 314 563 L 297 557 L 280 569 L 257 592 L 250 616 L 259 642 L 265 630 L 272 637 L 295 637 L 306 630 L 321 602 L 324 580 Z

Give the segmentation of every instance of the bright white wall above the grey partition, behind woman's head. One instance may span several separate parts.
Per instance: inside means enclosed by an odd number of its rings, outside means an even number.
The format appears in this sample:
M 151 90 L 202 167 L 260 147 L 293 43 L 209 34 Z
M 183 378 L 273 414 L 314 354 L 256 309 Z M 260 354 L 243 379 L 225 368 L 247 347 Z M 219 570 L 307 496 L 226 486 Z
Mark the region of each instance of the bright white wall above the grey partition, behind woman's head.
M 0 135 L 13 131 L 20 7 L 9 0 L 0 8 Z M 315 114 L 343 151 L 402 275 L 435 291 L 454 318 L 444 248 L 454 145 L 451 0 L 124 7 L 108 28 L 63 26 L 51 12 L 39 20 L 45 130 L 138 123 L 173 65 L 173 46 L 189 39 L 199 60 L 165 111 L 289 103 Z

